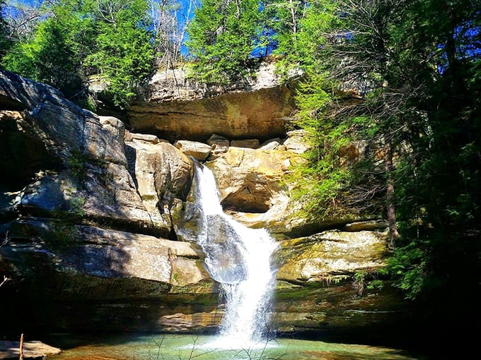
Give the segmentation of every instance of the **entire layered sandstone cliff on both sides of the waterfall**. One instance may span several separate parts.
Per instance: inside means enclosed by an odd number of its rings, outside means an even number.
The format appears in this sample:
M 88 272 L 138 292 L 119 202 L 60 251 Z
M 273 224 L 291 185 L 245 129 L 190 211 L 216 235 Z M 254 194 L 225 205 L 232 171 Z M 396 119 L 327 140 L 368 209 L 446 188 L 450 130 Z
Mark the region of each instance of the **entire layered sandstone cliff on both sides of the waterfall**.
M 222 311 L 195 244 L 192 157 L 214 172 L 226 212 L 279 240 L 274 328 L 357 328 L 400 309 L 390 289 L 365 287 L 384 265 L 384 222 L 349 215 L 310 224 L 297 215 L 302 204 L 283 180 L 307 147 L 284 121 L 286 88 L 207 100 L 206 92 L 190 100 L 188 87 L 180 97 L 150 91 L 129 109 L 127 131 L 53 88 L 0 73 L 0 275 L 11 277 L 1 296 L 12 309 L 5 324 L 214 330 Z M 158 115 L 176 107 L 172 123 Z M 182 118 L 188 112 L 195 116 Z M 356 272 L 363 278 L 353 282 Z

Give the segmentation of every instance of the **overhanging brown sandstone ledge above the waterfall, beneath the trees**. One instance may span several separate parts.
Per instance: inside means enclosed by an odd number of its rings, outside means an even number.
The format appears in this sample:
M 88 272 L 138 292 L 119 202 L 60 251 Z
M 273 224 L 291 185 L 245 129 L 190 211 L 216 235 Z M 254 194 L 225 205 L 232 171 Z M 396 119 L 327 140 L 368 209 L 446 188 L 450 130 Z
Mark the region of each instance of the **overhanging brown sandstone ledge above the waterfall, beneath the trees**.
M 231 88 L 195 83 L 182 69 L 162 71 L 127 113 L 137 132 L 205 143 L 213 133 L 229 139 L 284 136 L 293 106 L 292 90 L 279 83 L 274 64 L 265 64 L 253 80 Z

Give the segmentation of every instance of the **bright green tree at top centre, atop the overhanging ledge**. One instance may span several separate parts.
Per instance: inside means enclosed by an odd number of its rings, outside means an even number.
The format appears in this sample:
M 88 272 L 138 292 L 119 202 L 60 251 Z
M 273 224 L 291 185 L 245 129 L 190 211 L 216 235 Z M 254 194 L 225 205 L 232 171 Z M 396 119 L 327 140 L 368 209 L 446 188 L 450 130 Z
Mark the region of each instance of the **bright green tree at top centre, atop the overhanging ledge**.
M 202 1 L 187 30 L 195 78 L 226 84 L 248 76 L 264 47 L 261 20 L 257 0 Z

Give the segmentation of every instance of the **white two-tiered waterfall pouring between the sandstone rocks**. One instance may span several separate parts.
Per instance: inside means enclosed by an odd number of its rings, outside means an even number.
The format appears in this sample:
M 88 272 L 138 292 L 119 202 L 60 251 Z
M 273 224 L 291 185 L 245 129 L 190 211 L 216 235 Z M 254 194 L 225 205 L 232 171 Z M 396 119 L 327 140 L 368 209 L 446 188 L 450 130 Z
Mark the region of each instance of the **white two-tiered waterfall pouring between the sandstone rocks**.
M 271 256 L 277 244 L 265 229 L 250 229 L 224 213 L 214 174 L 198 162 L 195 181 L 202 210 L 197 243 L 225 301 L 219 341 L 232 347 L 261 343 L 269 330 L 275 275 Z

